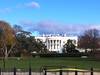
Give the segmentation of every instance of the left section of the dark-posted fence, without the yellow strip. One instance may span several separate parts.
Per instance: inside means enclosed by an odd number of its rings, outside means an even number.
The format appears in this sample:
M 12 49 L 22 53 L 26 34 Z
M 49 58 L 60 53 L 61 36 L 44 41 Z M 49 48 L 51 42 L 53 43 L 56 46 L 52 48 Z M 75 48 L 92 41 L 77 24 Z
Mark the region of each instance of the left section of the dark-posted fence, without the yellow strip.
M 12 68 L 12 69 L 1 69 L 0 75 L 41 75 L 40 71 L 35 71 L 30 67 L 28 69 L 24 68 Z

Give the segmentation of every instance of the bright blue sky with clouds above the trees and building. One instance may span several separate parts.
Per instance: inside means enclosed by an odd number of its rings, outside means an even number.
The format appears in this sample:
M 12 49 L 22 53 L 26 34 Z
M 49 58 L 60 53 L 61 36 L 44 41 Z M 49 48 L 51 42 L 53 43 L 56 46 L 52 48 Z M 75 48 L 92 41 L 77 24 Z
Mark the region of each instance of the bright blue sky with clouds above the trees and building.
M 79 33 L 100 28 L 100 0 L 0 0 L 0 20 L 33 33 Z

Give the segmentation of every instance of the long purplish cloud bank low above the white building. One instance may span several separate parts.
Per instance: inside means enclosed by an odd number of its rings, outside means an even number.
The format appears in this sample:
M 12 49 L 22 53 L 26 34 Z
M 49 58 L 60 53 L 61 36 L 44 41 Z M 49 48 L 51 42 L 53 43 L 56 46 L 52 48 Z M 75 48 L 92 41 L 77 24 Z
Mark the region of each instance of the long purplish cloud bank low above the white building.
M 59 24 L 52 21 L 42 21 L 33 23 L 32 21 L 21 22 L 23 28 L 28 31 L 38 31 L 40 34 L 52 33 L 67 33 L 67 34 L 80 34 L 88 29 L 99 29 L 100 25 L 81 25 L 81 24 Z

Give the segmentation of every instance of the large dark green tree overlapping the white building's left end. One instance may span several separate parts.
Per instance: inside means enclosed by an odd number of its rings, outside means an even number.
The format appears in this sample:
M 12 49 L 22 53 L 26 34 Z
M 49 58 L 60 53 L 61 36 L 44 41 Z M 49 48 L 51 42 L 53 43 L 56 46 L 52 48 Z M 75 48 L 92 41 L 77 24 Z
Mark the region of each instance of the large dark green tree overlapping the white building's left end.
M 36 40 L 34 36 L 31 36 L 30 32 L 21 31 L 16 34 L 17 38 L 17 48 L 20 53 L 31 54 L 36 53 L 46 53 L 46 46 L 42 41 Z

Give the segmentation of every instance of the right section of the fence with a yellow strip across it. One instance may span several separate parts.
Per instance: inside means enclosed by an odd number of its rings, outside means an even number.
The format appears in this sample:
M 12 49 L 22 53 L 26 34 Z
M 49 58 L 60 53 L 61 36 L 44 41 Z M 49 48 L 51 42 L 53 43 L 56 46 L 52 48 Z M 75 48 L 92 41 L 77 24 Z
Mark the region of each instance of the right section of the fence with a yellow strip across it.
M 93 68 L 91 68 L 90 70 L 83 70 L 68 67 L 59 67 L 58 69 L 51 69 L 48 67 L 51 66 L 44 67 L 43 75 L 100 75 L 100 70 L 94 70 Z

